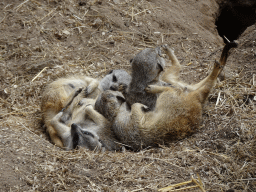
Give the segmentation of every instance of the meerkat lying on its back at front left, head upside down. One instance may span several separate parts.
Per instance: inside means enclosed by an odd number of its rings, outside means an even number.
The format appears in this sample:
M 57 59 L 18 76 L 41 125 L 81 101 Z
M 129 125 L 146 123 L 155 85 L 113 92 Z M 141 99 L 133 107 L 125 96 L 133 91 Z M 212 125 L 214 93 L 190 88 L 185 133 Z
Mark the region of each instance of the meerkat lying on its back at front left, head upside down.
M 118 92 L 113 97 L 118 101 Z M 124 98 L 121 98 L 121 101 L 123 100 Z M 108 104 L 110 103 L 111 99 Z M 110 121 L 97 112 L 97 107 L 94 109 L 94 104 L 94 99 L 84 98 L 76 106 L 69 104 L 52 118 L 51 126 L 61 138 L 64 149 L 85 147 L 89 150 L 117 151 L 121 148 L 113 134 Z M 65 113 L 70 114 L 70 111 L 72 120 L 63 120 L 63 116 L 66 117 Z

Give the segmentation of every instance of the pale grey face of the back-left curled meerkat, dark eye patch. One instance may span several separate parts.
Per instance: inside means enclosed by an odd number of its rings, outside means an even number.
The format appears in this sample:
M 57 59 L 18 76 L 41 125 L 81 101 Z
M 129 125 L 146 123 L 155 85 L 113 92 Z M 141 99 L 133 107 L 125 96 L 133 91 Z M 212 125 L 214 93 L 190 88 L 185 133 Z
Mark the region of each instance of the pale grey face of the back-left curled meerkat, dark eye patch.
M 132 77 L 124 70 L 111 70 L 101 81 L 100 87 L 103 91 L 113 90 L 117 91 L 119 85 L 128 86 Z

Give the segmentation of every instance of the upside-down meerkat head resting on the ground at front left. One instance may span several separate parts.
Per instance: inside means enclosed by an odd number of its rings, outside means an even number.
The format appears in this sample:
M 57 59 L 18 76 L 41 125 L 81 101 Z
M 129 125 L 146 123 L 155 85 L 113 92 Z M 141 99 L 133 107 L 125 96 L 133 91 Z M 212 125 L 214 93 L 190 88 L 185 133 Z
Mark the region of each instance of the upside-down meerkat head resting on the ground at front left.
M 105 146 L 92 129 L 86 130 L 80 127 L 80 125 L 73 123 L 71 125 L 71 148 L 75 149 L 77 147 L 99 150 Z

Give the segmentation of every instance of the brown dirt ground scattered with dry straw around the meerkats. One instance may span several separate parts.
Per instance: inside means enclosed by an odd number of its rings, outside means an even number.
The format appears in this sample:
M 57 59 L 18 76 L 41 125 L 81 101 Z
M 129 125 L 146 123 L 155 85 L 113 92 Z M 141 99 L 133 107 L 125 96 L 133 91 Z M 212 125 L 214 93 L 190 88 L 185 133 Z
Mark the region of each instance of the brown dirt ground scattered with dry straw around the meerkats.
M 218 6 L 184 2 L 1 1 L 0 191 L 157 191 L 192 177 L 206 191 L 256 190 L 255 25 L 193 136 L 138 153 L 95 153 L 65 152 L 45 133 L 40 97 L 58 77 L 129 70 L 139 50 L 162 43 L 175 48 L 185 80 L 205 77 L 223 45 L 212 18 Z

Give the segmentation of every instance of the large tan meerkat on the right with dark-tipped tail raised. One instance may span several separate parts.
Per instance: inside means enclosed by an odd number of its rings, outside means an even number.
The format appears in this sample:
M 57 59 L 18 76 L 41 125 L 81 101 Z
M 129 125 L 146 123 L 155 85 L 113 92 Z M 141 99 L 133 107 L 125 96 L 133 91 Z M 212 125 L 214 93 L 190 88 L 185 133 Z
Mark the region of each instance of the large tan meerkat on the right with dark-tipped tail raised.
M 110 108 L 111 112 L 102 110 L 102 114 L 113 121 L 112 129 L 120 142 L 134 150 L 140 150 L 166 144 L 174 139 L 182 139 L 194 133 L 202 120 L 203 104 L 226 64 L 228 52 L 236 46 L 236 43 L 227 44 L 223 49 L 220 63 L 216 61 L 212 72 L 195 85 L 175 81 L 178 78 L 175 71 L 179 71 L 179 62 L 174 57 L 173 51 L 164 46 L 170 60 L 175 61 L 169 69 L 170 74 L 165 74 L 165 80 L 174 83 L 177 87 L 148 85 L 145 88 L 147 93 L 159 94 L 153 111 L 145 112 L 147 106 L 142 103 L 134 103 L 129 109 L 126 102 L 120 103 L 118 100 L 115 102 L 116 107 Z M 114 93 L 109 90 L 98 97 L 102 100 L 103 107 L 108 107 L 108 99 L 113 98 L 111 95 Z M 108 117 L 109 114 L 112 116 Z

